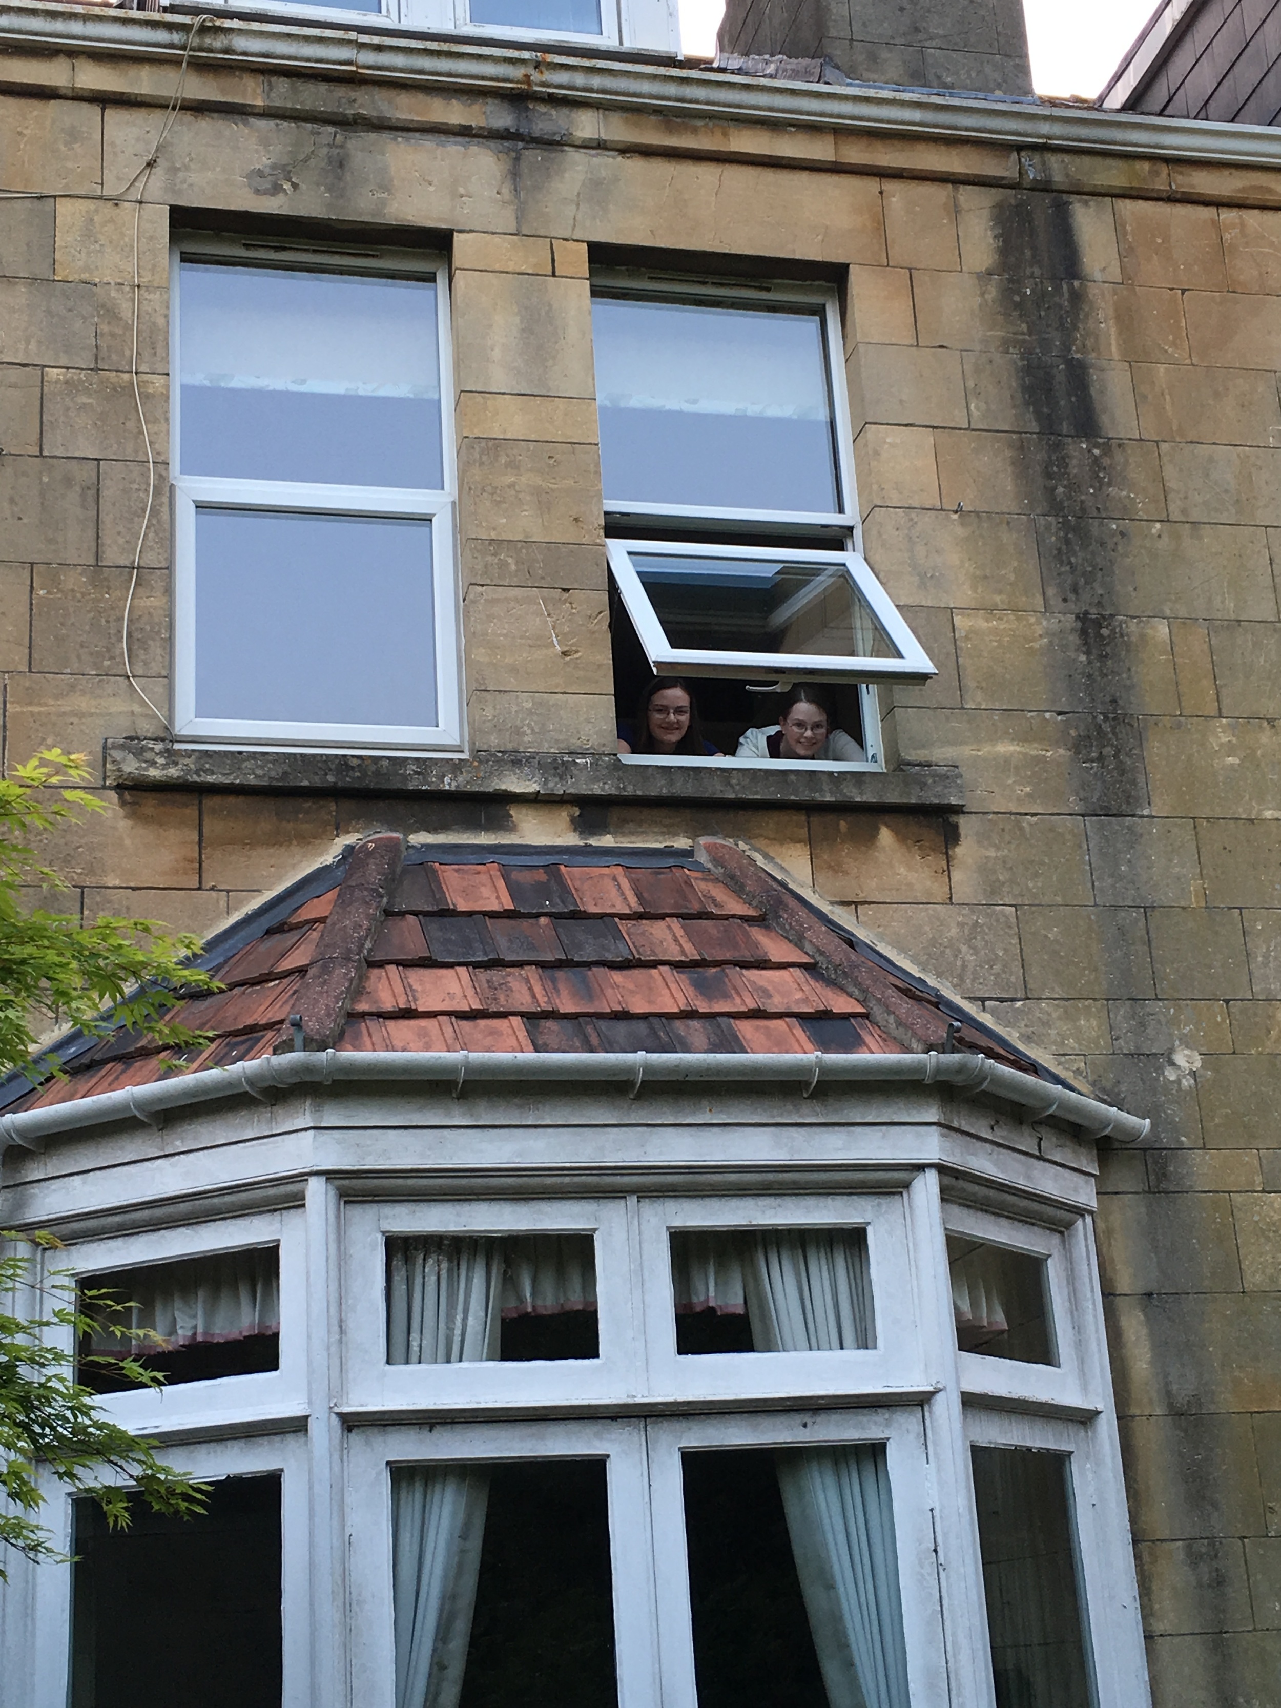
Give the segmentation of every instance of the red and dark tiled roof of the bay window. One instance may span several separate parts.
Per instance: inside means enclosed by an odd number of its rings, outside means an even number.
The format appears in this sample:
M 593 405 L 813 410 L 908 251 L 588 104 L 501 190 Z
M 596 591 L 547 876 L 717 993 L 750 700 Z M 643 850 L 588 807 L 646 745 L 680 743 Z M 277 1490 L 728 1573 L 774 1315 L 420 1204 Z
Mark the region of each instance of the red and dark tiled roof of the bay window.
M 299 1045 L 958 1047 L 1049 1078 L 997 1032 L 837 931 L 741 849 L 705 842 L 700 856 L 405 851 L 400 837 L 369 839 L 212 939 L 203 965 L 225 991 L 181 1004 L 178 1018 L 214 1038 L 181 1061 L 217 1068 Z M 178 1066 L 173 1049 L 130 1032 L 72 1040 L 61 1054 L 68 1078 L 10 1108 L 145 1085 Z

